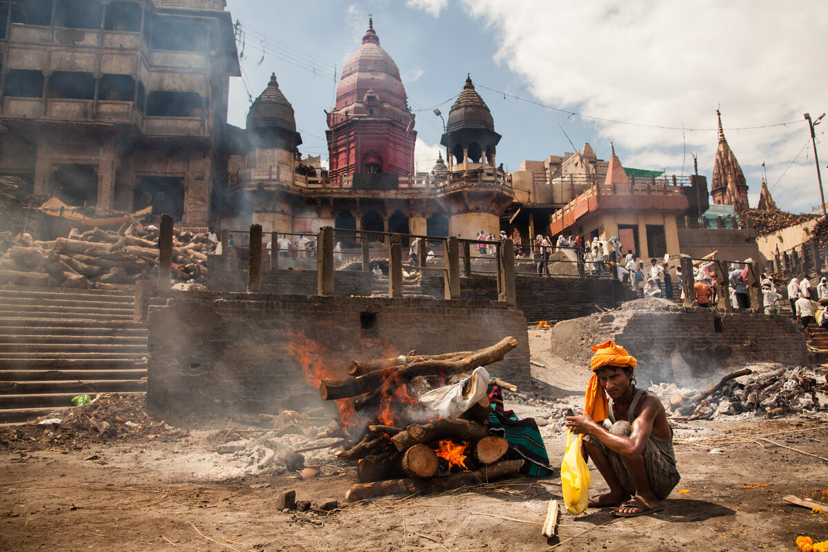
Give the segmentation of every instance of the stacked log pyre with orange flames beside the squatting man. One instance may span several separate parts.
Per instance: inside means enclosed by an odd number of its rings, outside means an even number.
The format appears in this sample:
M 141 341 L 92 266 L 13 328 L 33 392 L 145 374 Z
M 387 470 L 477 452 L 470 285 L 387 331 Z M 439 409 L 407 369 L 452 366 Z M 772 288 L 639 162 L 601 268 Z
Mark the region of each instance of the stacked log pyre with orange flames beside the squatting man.
M 361 483 L 350 488 L 346 499 L 435 492 L 516 475 L 523 461 L 502 460 L 508 441 L 489 434 L 488 396 L 456 420 L 440 419 L 416 402 L 432 387 L 450 384 L 462 372 L 502 360 L 515 347 L 517 340 L 509 337 L 478 351 L 430 356 L 412 351 L 397 358 L 353 361 L 348 370 L 351 379 L 323 380 L 322 399 L 347 401 L 346 410 L 362 420 L 357 427 L 349 427 L 354 440 L 337 454 L 342 460 L 359 462 Z

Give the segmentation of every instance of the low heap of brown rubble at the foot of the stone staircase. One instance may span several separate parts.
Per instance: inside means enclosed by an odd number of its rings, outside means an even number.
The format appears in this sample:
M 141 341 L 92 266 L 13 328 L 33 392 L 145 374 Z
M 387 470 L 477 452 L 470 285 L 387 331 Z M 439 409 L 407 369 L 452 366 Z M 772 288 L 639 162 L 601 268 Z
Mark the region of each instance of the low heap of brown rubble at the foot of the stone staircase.
M 114 439 L 172 441 L 188 434 L 187 430 L 150 418 L 144 411 L 146 405 L 142 393 L 104 393 L 87 405 L 2 430 L 0 447 L 79 450 Z

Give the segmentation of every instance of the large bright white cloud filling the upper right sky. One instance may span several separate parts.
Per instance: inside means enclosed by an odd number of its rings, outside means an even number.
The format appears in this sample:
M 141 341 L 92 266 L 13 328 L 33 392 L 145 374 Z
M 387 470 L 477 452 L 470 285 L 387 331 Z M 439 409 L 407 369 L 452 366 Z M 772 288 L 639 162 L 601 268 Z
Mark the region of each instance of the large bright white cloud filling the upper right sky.
M 828 2 L 463 2 L 472 17 L 494 29 L 496 60 L 542 102 L 599 118 L 678 127 L 595 123 L 596 150 L 612 140 L 623 162 L 641 168 L 669 162 L 668 170 L 680 172 L 688 152 L 687 174 L 694 151 L 700 172 L 709 175 L 720 107 L 724 134 L 751 194 L 758 194 L 762 162 L 773 183 L 808 137 L 802 113 L 816 118 L 828 110 L 828 72 L 818 64 L 820 52 L 828 51 L 819 25 L 828 20 Z M 777 122 L 795 124 L 735 130 Z M 682 126 L 705 130 L 682 133 Z M 828 151 L 823 156 L 828 160 Z M 819 202 L 818 190 L 811 193 L 815 171 L 811 152 L 811 173 L 788 170 L 772 190 L 777 203 L 810 211 Z

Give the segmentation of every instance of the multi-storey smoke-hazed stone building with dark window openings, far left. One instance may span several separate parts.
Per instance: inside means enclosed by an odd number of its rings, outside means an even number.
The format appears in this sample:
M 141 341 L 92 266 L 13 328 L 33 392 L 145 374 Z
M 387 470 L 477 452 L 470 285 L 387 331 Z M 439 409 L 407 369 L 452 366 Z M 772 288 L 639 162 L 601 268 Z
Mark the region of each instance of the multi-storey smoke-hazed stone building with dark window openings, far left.
M 227 181 L 224 0 L 0 2 L 0 172 L 97 214 L 209 223 Z

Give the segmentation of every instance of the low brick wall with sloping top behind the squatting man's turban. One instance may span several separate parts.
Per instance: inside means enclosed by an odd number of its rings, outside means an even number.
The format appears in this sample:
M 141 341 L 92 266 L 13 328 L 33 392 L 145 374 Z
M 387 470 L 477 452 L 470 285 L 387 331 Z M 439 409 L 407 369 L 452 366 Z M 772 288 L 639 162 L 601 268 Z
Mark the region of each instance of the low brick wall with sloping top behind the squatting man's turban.
M 636 377 L 647 385 L 698 378 L 714 382 L 722 372 L 747 363 L 810 361 L 802 331 L 784 316 L 685 309 L 660 300 L 635 303 L 556 324 L 553 352 L 589 367 L 592 346 L 613 339 L 638 359 Z

